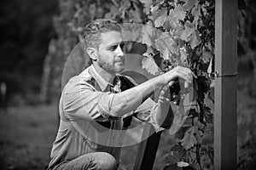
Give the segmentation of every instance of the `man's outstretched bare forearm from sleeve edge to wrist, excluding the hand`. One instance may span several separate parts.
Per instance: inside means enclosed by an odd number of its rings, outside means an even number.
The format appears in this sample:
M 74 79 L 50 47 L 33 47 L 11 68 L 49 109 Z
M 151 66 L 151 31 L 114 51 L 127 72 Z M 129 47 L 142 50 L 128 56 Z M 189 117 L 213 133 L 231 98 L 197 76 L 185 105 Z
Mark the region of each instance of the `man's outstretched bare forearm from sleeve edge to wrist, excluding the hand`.
M 136 110 L 145 99 L 154 93 L 154 90 L 160 88 L 160 86 L 165 83 L 163 75 L 161 75 L 159 77 L 154 77 L 147 82 L 143 82 L 134 88 L 115 94 L 110 114 L 113 116 L 123 116 L 129 111 Z

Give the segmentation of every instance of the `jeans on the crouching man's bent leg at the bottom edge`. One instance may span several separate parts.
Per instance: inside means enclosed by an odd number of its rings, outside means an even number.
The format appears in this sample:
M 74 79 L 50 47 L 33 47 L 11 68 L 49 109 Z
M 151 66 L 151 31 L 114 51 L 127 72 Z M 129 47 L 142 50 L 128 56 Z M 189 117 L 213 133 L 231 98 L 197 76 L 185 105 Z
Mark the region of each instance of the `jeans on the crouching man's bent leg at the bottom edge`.
M 115 158 L 107 152 L 93 152 L 63 161 L 54 170 L 116 170 Z

